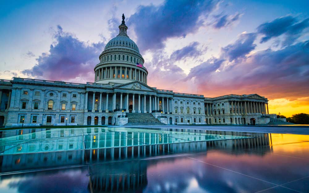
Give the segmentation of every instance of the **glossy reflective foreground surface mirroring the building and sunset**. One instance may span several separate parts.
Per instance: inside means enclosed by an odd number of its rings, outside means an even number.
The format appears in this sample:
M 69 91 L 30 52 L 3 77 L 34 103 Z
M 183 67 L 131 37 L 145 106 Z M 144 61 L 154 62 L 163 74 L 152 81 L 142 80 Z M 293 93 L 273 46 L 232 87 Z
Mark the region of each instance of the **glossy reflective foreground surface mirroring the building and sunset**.
M 308 135 L 106 127 L 0 137 L 0 192 L 309 192 Z

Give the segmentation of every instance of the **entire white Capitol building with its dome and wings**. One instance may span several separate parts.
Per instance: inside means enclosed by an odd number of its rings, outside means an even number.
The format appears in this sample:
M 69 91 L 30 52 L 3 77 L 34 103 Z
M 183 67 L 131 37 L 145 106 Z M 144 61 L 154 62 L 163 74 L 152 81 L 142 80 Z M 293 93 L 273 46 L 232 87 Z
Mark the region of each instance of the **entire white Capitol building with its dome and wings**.
M 13 78 L 0 80 L 0 126 L 268 124 L 284 121 L 269 114 L 258 94 L 208 98 L 147 85 L 148 71 L 138 46 L 119 34 L 106 44 L 94 67 L 94 82 Z

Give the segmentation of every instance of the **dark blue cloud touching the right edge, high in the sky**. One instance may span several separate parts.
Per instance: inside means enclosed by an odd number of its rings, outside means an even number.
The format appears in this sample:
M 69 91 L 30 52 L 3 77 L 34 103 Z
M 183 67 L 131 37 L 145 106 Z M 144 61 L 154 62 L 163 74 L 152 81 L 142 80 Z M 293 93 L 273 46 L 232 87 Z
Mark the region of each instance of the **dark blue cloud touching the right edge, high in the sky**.
M 264 35 L 260 43 L 267 42 L 273 37 L 286 34 L 283 46 L 293 44 L 301 36 L 301 32 L 309 27 L 309 18 L 297 23 L 298 20 L 292 16 L 277 18 L 271 22 L 266 22 L 257 27 L 258 33 Z

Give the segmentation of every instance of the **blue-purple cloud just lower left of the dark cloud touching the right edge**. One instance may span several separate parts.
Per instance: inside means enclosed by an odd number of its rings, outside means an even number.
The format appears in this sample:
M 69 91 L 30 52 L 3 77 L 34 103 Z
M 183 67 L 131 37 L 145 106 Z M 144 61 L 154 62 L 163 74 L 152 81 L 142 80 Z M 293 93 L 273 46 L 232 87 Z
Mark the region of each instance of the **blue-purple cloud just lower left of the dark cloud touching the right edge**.
M 229 44 L 222 49 L 223 55 L 229 59 L 229 61 L 244 58 L 246 54 L 255 49 L 256 44 L 253 44 L 256 39 L 255 33 L 243 33 L 240 34 L 238 40 L 233 44 Z

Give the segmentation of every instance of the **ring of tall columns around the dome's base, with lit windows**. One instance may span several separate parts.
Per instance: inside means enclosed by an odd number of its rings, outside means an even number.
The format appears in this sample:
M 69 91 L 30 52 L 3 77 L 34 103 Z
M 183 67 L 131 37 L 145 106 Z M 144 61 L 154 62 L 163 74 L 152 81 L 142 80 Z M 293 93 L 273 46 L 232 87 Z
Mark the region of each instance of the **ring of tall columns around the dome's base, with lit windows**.
M 124 70 L 124 73 L 122 73 L 122 70 Z M 138 80 L 147 84 L 147 73 L 138 68 L 130 68 L 125 66 L 109 66 L 95 70 L 95 81 L 112 78 Z

